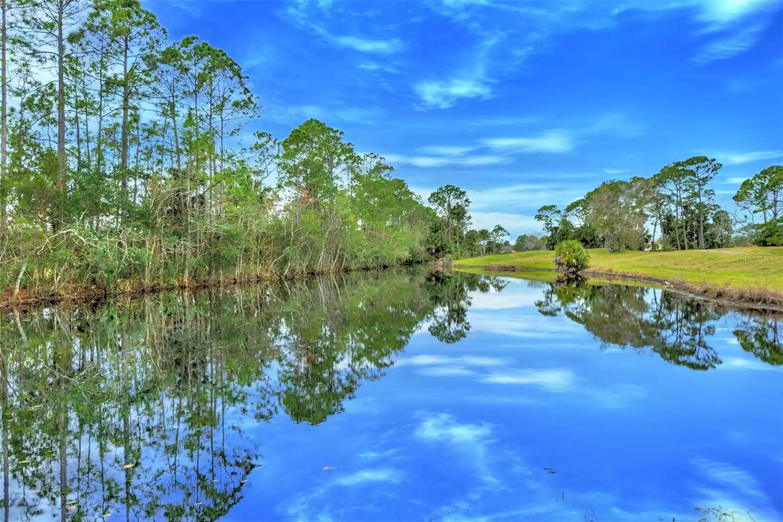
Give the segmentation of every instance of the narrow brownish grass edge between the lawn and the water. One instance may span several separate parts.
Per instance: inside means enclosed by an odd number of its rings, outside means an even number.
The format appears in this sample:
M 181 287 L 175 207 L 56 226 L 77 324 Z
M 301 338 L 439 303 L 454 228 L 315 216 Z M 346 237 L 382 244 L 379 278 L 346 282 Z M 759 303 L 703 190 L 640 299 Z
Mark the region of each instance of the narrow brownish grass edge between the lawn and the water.
M 534 268 L 518 265 L 452 265 L 453 268 L 474 268 L 479 270 L 491 270 L 494 272 L 554 272 L 554 268 Z M 665 290 L 680 293 L 681 295 L 721 304 L 723 306 L 738 308 L 741 310 L 757 311 L 783 311 L 783 292 L 767 290 L 763 288 L 734 288 L 715 283 L 689 283 L 682 279 L 663 279 L 654 275 L 644 275 L 634 272 L 619 272 L 616 270 L 587 269 L 581 275 L 589 275 L 604 279 L 630 280 L 640 283 L 661 285 Z

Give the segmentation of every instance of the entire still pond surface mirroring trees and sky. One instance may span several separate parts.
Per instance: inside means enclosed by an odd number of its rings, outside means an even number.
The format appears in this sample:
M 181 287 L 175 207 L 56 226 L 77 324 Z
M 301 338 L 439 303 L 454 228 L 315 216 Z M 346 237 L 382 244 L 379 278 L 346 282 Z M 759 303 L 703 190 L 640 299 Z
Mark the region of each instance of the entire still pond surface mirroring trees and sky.
M 0 329 L 3 520 L 783 520 L 770 315 L 403 272 Z

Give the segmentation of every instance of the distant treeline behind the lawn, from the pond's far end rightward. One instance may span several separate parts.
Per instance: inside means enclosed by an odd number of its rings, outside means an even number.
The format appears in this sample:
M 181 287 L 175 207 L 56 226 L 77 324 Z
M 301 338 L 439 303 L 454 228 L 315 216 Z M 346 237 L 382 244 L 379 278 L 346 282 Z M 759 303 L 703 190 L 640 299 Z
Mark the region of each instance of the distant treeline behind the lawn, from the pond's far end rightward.
M 540 207 L 536 221 L 543 235 L 523 234 L 513 244 L 503 225 L 473 229 L 467 193 L 445 185 L 428 199 L 439 218 L 426 239 L 428 254 L 456 258 L 552 250 L 569 239 L 612 252 L 783 246 L 783 167 L 767 167 L 744 180 L 731 213 L 715 203 L 709 186 L 721 167 L 698 156 L 666 165 L 650 178 L 603 182 L 563 209 Z

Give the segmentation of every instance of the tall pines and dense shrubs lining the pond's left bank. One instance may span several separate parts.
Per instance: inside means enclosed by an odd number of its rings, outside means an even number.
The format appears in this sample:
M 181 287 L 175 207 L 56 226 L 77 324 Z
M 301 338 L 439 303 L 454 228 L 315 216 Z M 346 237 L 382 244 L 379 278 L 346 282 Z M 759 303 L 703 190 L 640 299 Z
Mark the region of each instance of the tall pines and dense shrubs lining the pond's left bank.
M 240 64 L 139 0 L 5 0 L 0 37 L 0 292 L 428 258 L 438 218 L 382 157 L 321 121 L 253 131 Z

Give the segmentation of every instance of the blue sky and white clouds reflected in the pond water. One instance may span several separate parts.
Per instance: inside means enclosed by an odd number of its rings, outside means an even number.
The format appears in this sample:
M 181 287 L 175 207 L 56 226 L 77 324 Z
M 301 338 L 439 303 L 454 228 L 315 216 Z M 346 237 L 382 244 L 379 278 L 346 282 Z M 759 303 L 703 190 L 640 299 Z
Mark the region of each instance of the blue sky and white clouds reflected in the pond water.
M 466 338 L 412 337 L 345 414 L 258 426 L 266 464 L 228 520 L 781 520 L 780 367 L 731 328 L 708 372 L 602 348 L 541 294 L 471 293 Z

